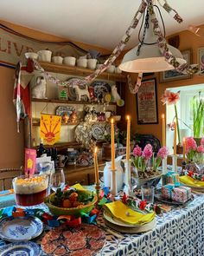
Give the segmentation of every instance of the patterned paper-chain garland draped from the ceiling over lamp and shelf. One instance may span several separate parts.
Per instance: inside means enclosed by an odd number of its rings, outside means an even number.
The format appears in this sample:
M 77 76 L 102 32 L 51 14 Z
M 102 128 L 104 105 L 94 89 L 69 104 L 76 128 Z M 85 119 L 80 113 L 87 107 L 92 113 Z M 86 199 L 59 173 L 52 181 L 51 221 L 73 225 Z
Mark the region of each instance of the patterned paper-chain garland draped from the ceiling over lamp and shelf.
M 174 10 L 169 6 L 169 3 L 167 3 L 166 0 L 157 0 L 157 1 L 163 7 L 163 9 L 169 13 L 169 15 L 174 17 L 177 23 L 182 23 L 182 17 L 179 16 L 176 10 Z M 141 16 L 143 15 L 144 11 L 147 8 L 150 12 L 151 23 L 153 23 L 153 31 L 155 35 L 158 36 L 158 39 L 157 39 L 158 48 L 160 49 L 161 53 L 165 57 L 165 60 L 169 62 L 169 64 L 172 65 L 178 72 L 182 74 L 190 74 L 190 75 L 200 74 L 201 70 L 199 69 L 198 64 L 194 64 L 194 65 L 188 65 L 187 63 L 182 64 L 178 62 L 175 56 L 173 56 L 172 53 L 170 52 L 167 46 L 166 39 L 163 37 L 163 34 L 159 28 L 158 20 L 156 19 L 156 14 L 154 11 L 152 0 L 146 0 L 146 1 L 142 0 L 142 3 L 140 4 L 135 16 L 133 17 L 130 26 L 125 31 L 124 36 L 122 37 L 121 41 L 117 44 L 116 48 L 113 49 L 112 55 L 109 56 L 106 59 L 105 63 L 102 64 L 99 69 L 96 69 L 91 75 L 87 75 L 84 79 L 75 79 L 74 82 L 73 81 L 63 82 L 59 79 L 54 78 L 54 76 L 50 75 L 48 72 L 46 72 L 44 69 L 41 68 L 41 65 L 39 62 L 37 62 L 36 60 L 33 60 L 35 69 L 41 71 L 41 74 L 44 75 L 48 81 L 53 82 L 54 84 L 59 84 L 63 86 L 73 86 L 73 85 L 83 86 L 83 85 L 86 85 L 87 83 L 92 82 L 97 76 L 103 73 L 105 69 L 109 68 L 112 65 L 112 63 L 117 59 L 117 57 L 120 55 L 120 53 L 124 49 L 124 46 L 129 42 L 133 30 L 136 29 Z M 137 91 L 141 86 L 143 73 L 138 74 L 137 82 L 134 85 L 131 82 L 131 75 L 127 75 L 127 78 L 128 78 L 128 85 L 129 85 L 131 94 L 137 94 Z

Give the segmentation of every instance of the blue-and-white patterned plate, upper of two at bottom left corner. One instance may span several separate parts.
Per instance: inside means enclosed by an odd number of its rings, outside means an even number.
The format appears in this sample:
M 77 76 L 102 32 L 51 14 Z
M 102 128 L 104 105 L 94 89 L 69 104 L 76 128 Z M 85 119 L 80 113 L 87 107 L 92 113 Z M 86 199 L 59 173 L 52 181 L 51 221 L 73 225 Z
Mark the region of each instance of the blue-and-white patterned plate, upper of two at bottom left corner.
M 43 231 L 43 224 L 35 217 L 13 218 L 0 220 L 0 238 L 10 242 L 31 240 Z

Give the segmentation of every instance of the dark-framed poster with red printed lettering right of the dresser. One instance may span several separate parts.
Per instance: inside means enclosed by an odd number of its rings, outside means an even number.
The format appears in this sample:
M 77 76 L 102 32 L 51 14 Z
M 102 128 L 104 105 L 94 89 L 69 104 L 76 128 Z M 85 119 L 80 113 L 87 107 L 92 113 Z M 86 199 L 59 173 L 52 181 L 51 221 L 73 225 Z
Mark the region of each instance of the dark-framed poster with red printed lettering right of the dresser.
M 137 123 L 158 123 L 156 78 L 143 80 L 136 95 Z

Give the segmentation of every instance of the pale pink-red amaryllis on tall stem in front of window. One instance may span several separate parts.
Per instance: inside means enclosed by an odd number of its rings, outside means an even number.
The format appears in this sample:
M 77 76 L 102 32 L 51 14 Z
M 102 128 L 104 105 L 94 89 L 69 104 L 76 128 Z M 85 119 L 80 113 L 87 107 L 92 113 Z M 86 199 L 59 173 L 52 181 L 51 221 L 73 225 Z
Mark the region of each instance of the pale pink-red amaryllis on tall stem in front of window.
M 182 141 L 181 141 L 181 134 L 180 134 L 180 126 L 179 126 L 179 119 L 178 119 L 178 112 L 176 103 L 180 100 L 180 91 L 177 93 L 173 93 L 169 90 L 165 90 L 162 95 L 162 102 L 163 104 L 168 105 L 174 105 L 175 107 L 175 120 L 176 120 L 176 126 L 177 126 L 177 133 L 178 133 L 178 144 L 176 146 L 176 153 L 182 154 L 183 148 L 182 148 Z

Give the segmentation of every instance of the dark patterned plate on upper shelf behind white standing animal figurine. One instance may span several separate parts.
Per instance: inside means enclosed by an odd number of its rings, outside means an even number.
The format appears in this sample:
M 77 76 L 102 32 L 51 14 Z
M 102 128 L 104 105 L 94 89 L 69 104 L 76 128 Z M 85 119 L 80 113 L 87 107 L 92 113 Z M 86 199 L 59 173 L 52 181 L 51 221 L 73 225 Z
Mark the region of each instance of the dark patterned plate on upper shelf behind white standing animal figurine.
M 111 92 L 111 86 L 104 81 L 94 81 L 91 86 L 94 89 L 94 95 L 98 100 L 104 99 L 105 95 Z

